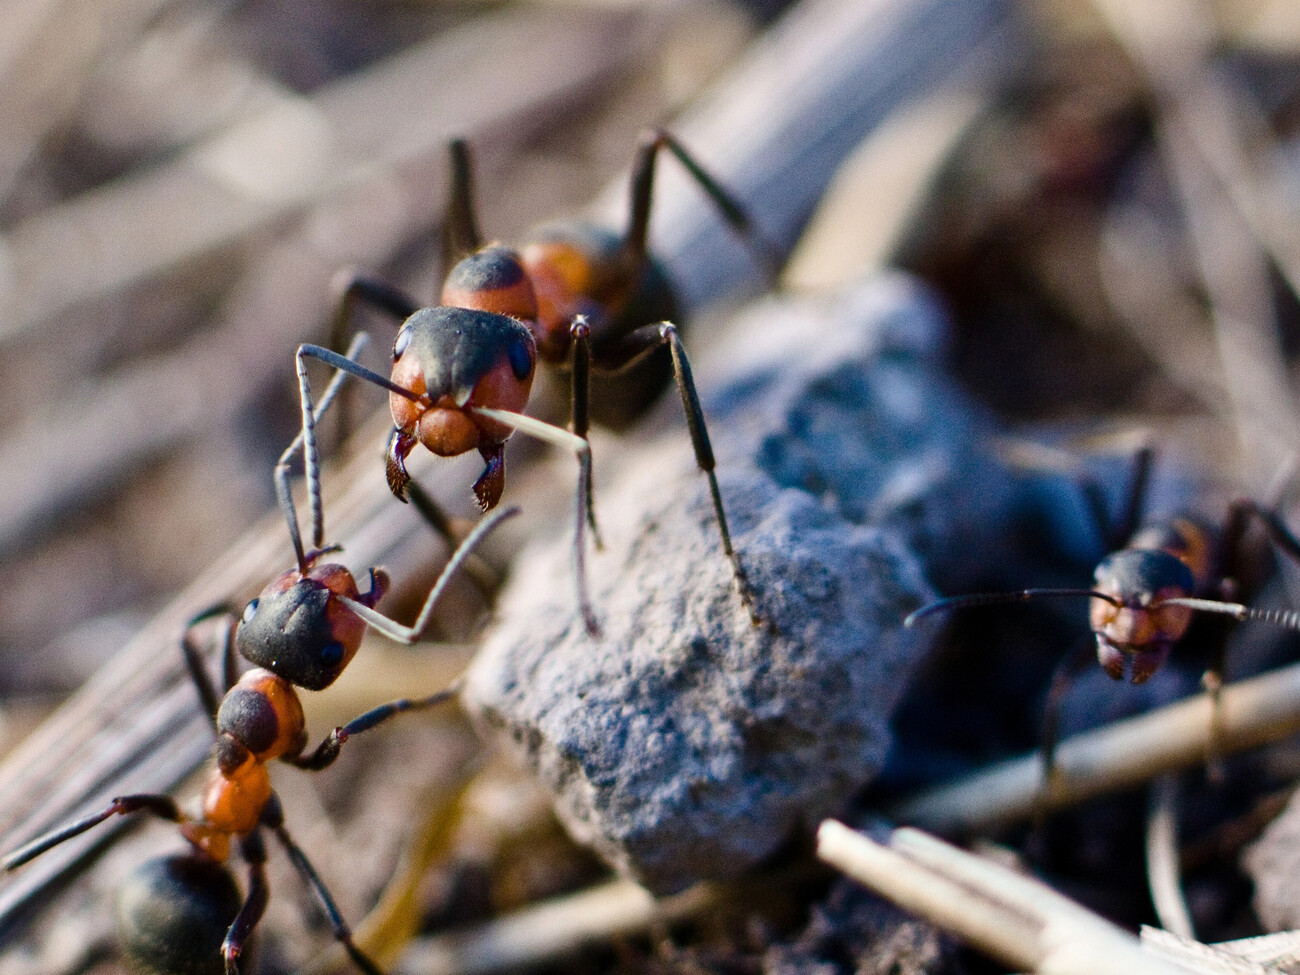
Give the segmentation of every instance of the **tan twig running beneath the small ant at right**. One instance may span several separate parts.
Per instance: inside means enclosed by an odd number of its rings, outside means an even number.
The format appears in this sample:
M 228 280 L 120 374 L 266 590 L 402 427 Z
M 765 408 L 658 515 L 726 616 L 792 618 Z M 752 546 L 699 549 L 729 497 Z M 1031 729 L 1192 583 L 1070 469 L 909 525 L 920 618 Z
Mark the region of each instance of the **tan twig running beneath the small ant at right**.
M 1218 754 L 1300 731 L 1300 664 L 1223 688 Z M 984 768 L 894 805 L 888 815 L 939 833 L 965 833 L 1131 788 L 1205 762 L 1212 706 L 1205 694 L 1078 734 L 1060 744 L 1057 775 L 1044 790 L 1036 751 Z

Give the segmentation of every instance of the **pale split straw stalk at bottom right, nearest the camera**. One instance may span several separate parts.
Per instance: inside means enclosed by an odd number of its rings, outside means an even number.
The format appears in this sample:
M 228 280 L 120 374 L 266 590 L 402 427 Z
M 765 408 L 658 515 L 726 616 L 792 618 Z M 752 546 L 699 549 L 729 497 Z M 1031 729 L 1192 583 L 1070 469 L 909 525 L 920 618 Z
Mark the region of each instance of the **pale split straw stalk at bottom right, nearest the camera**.
M 881 845 L 828 819 L 818 857 L 1017 971 L 1188 972 L 1048 885 L 916 829 L 896 829 Z

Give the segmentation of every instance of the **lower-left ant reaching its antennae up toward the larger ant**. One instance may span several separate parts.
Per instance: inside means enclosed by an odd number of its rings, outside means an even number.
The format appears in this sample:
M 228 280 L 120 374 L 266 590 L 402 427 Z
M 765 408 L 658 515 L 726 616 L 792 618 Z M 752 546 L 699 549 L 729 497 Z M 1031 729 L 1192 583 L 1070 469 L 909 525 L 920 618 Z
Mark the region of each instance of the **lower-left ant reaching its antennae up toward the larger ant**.
M 359 354 L 364 341 L 364 335 L 359 335 L 348 355 Z M 321 399 L 320 413 L 329 408 L 346 378 L 342 372 L 334 376 Z M 312 416 L 309 422 L 315 420 Z M 299 446 L 304 446 L 312 510 L 315 547 L 309 551 L 303 547 L 289 489 L 289 464 Z M 381 975 L 378 966 L 352 942 L 324 881 L 285 828 L 283 810 L 270 785 L 266 763 L 278 758 L 298 768 L 320 771 L 338 758 L 351 736 L 403 711 L 433 707 L 454 697 L 458 685 L 425 698 L 381 705 L 335 728 L 315 750 L 308 750 L 296 688 L 322 690 L 333 684 L 356 654 L 367 627 L 403 644 L 415 642 L 447 582 L 474 546 L 500 521 L 517 514 L 517 508 L 507 508 L 478 523 L 447 562 L 415 625 L 406 627 L 374 608 L 389 584 L 384 569 L 369 569 L 369 586 L 361 593 L 347 568 L 322 560 L 337 551 L 337 546 L 322 547 L 321 543 L 318 459 L 313 450 L 306 448 L 302 434 L 281 456 L 274 480 L 296 566 L 252 599 L 238 621 L 230 607 L 217 606 L 190 620 L 181 640 L 186 668 L 216 734 L 216 763 L 198 815 L 183 811 L 165 794 L 120 796 L 100 811 L 36 837 L 4 858 L 5 870 L 14 870 L 114 815 L 147 812 L 179 824 L 190 850 L 148 861 L 131 874 L 120 893 L 122 949 L 148 971 L 186 975 L 221 971 L 234 975 L 238 971 L 244 945 L 269 900 L 265 829 L 283 846 L 324 909 L 334 937 L 356 967 L 367 975 Z M 222 614 L 231 618 L 231 625 L 225 638 L 225 693 L 218 694 L 191 634 L 200 621 Z M 238 681 L 235 650 L 255 664 Z M 238 845 L 248 868 L 248 893 L 242 900 L 225 867 L 231 845 Z

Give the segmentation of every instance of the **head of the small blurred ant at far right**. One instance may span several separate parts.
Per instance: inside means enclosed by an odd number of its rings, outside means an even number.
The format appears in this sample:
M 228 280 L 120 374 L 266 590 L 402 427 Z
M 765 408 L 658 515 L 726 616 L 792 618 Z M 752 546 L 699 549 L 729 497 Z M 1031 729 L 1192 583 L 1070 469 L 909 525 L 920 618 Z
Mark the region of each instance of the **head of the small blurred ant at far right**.
M 1088 616 L 1097 659 L 1115 680 L 1141 684 L 1187 632 L 1192 610 L 1166 601 L 1190 597 L 1196 580 L 1187 563 L 1154 549 L 1121 549 L 1097 564 Z

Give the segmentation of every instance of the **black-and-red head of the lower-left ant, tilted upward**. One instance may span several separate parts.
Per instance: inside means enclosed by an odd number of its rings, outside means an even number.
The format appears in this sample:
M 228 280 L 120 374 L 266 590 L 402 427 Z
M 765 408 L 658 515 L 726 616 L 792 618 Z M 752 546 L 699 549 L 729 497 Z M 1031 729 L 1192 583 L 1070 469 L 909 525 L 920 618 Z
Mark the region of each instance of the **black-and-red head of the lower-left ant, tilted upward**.
M 365 621 L 334 597 L 370 606 L 387 584 L 386 576 L 372 573 L 370 592 L 363 597 L 351 572 L 316 564 L 315 555 L 306 573 L 282 573 L 250 602 L 235 630 L 235 647 L 244 659 L 308 690 L 333 684 L 365 634 Z

